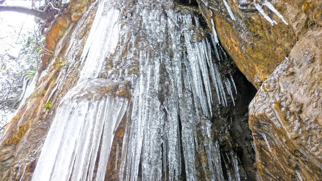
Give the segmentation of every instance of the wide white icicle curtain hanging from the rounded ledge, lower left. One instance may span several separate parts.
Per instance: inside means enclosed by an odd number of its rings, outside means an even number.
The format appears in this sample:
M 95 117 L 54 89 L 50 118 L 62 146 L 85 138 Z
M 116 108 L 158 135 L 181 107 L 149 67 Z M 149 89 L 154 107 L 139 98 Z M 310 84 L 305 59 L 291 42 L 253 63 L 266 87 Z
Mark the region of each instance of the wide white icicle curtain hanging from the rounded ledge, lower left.
M 111 140 L 114 136 L 113 130 L 125 113 L 127 100 L 110 96 L 106 99 L 109 101 L 105 101 L 104 98 L 97 100 L 101 97 L 99 95 L 101 93 L 97 93 L 93 100 L 88 100 L 87 97 L 92 94 L 92 87 L 99 90 L 97 85 L 114 86 L 115 84 L 105 80 L 92 80 L 70 89 L 61 101 L 45 140 L 33 180 L 68 180 L 71 173 L 73 173 L 71 180 L 81 178 L 84 180 L 86 178 L 84 173 L 88 171 L 91 177 L 91 169 L 94 168 L 101 137 L 104 144 L 101 146 L 98 170 L 102 170 L 101 173 L 105 175 Z M 85 92 L 80 94 L 81 90 Z M 110 114 L 114 116 L 111 117 Z M 101 135 L 102 131 L 93 131 L 102 130 L 104 122 L 103 135 Z M 91 159 L 88 170 L 90 157 L 95 159 Z M 105 160 L 103 160 L 104 157 Z M 96 180 L 102 180 L 102 177 L 96 178 Z

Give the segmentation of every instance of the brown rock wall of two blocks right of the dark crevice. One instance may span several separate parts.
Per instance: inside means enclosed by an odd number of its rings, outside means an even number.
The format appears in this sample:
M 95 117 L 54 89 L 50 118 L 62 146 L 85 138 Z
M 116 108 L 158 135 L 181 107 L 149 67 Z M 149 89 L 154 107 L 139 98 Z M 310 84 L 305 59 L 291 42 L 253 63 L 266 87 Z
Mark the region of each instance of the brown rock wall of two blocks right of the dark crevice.
M 238 68 L 259 89 L 249 106 L 257 180 L 320 179 L 322 2 L 198 3 Z

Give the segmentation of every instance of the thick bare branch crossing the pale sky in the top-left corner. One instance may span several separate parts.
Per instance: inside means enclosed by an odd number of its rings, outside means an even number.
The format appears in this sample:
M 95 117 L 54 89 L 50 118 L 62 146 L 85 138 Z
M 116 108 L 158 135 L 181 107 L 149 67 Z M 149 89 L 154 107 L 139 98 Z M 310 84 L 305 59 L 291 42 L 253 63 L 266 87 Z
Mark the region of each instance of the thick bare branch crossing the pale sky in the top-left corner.
M 12 11 L 12 12 L 18 12 L 18 13 L 24 13 L 27 15 L 32 15 L 37 18 L 41 19 L 51 19 L 51 16 L 48 13 L 45 13 L 43 11 L 27 8 L 27 7 L 21 7 L 21 6 L 8 6 L 8 5 L 0 5 L 0 12 L 3 11 Z

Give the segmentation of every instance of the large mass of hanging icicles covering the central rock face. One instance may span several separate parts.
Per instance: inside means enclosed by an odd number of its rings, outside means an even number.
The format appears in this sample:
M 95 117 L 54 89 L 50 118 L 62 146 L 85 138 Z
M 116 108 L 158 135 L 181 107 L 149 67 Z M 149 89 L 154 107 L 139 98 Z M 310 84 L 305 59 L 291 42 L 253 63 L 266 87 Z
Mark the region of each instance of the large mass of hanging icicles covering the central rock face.
M 183 171 L 187 180 L 196 180 L 199 144 L 205 144 L 212 180 L 224 180 L 210 118 L 214 101 L 229 106 L 226 94 L 234 100 L 234 80 L 231 75 L 222 79 L 219 72 L 224 56 L 215 28 L 210 40 L 196 39 L 198 17 L 162 8 L 164 3 L 99 2 L 80 60 L 71 57 L 71 63 L 84 63 L 80 78 L 58 107 L 33 180 L 91 180 L 94 175 L 103 180 L 125 112 L 123 144 L 116 148 L 120 180 L 180 180 Z M 130 100 L 104 92 L 104 86 L 125 82 L 131 84 Z M 205 143 L 198 143 L 198 123 L 209 140 Z M 237 156 L 231 159 L 231 177 L 238 180 Z

